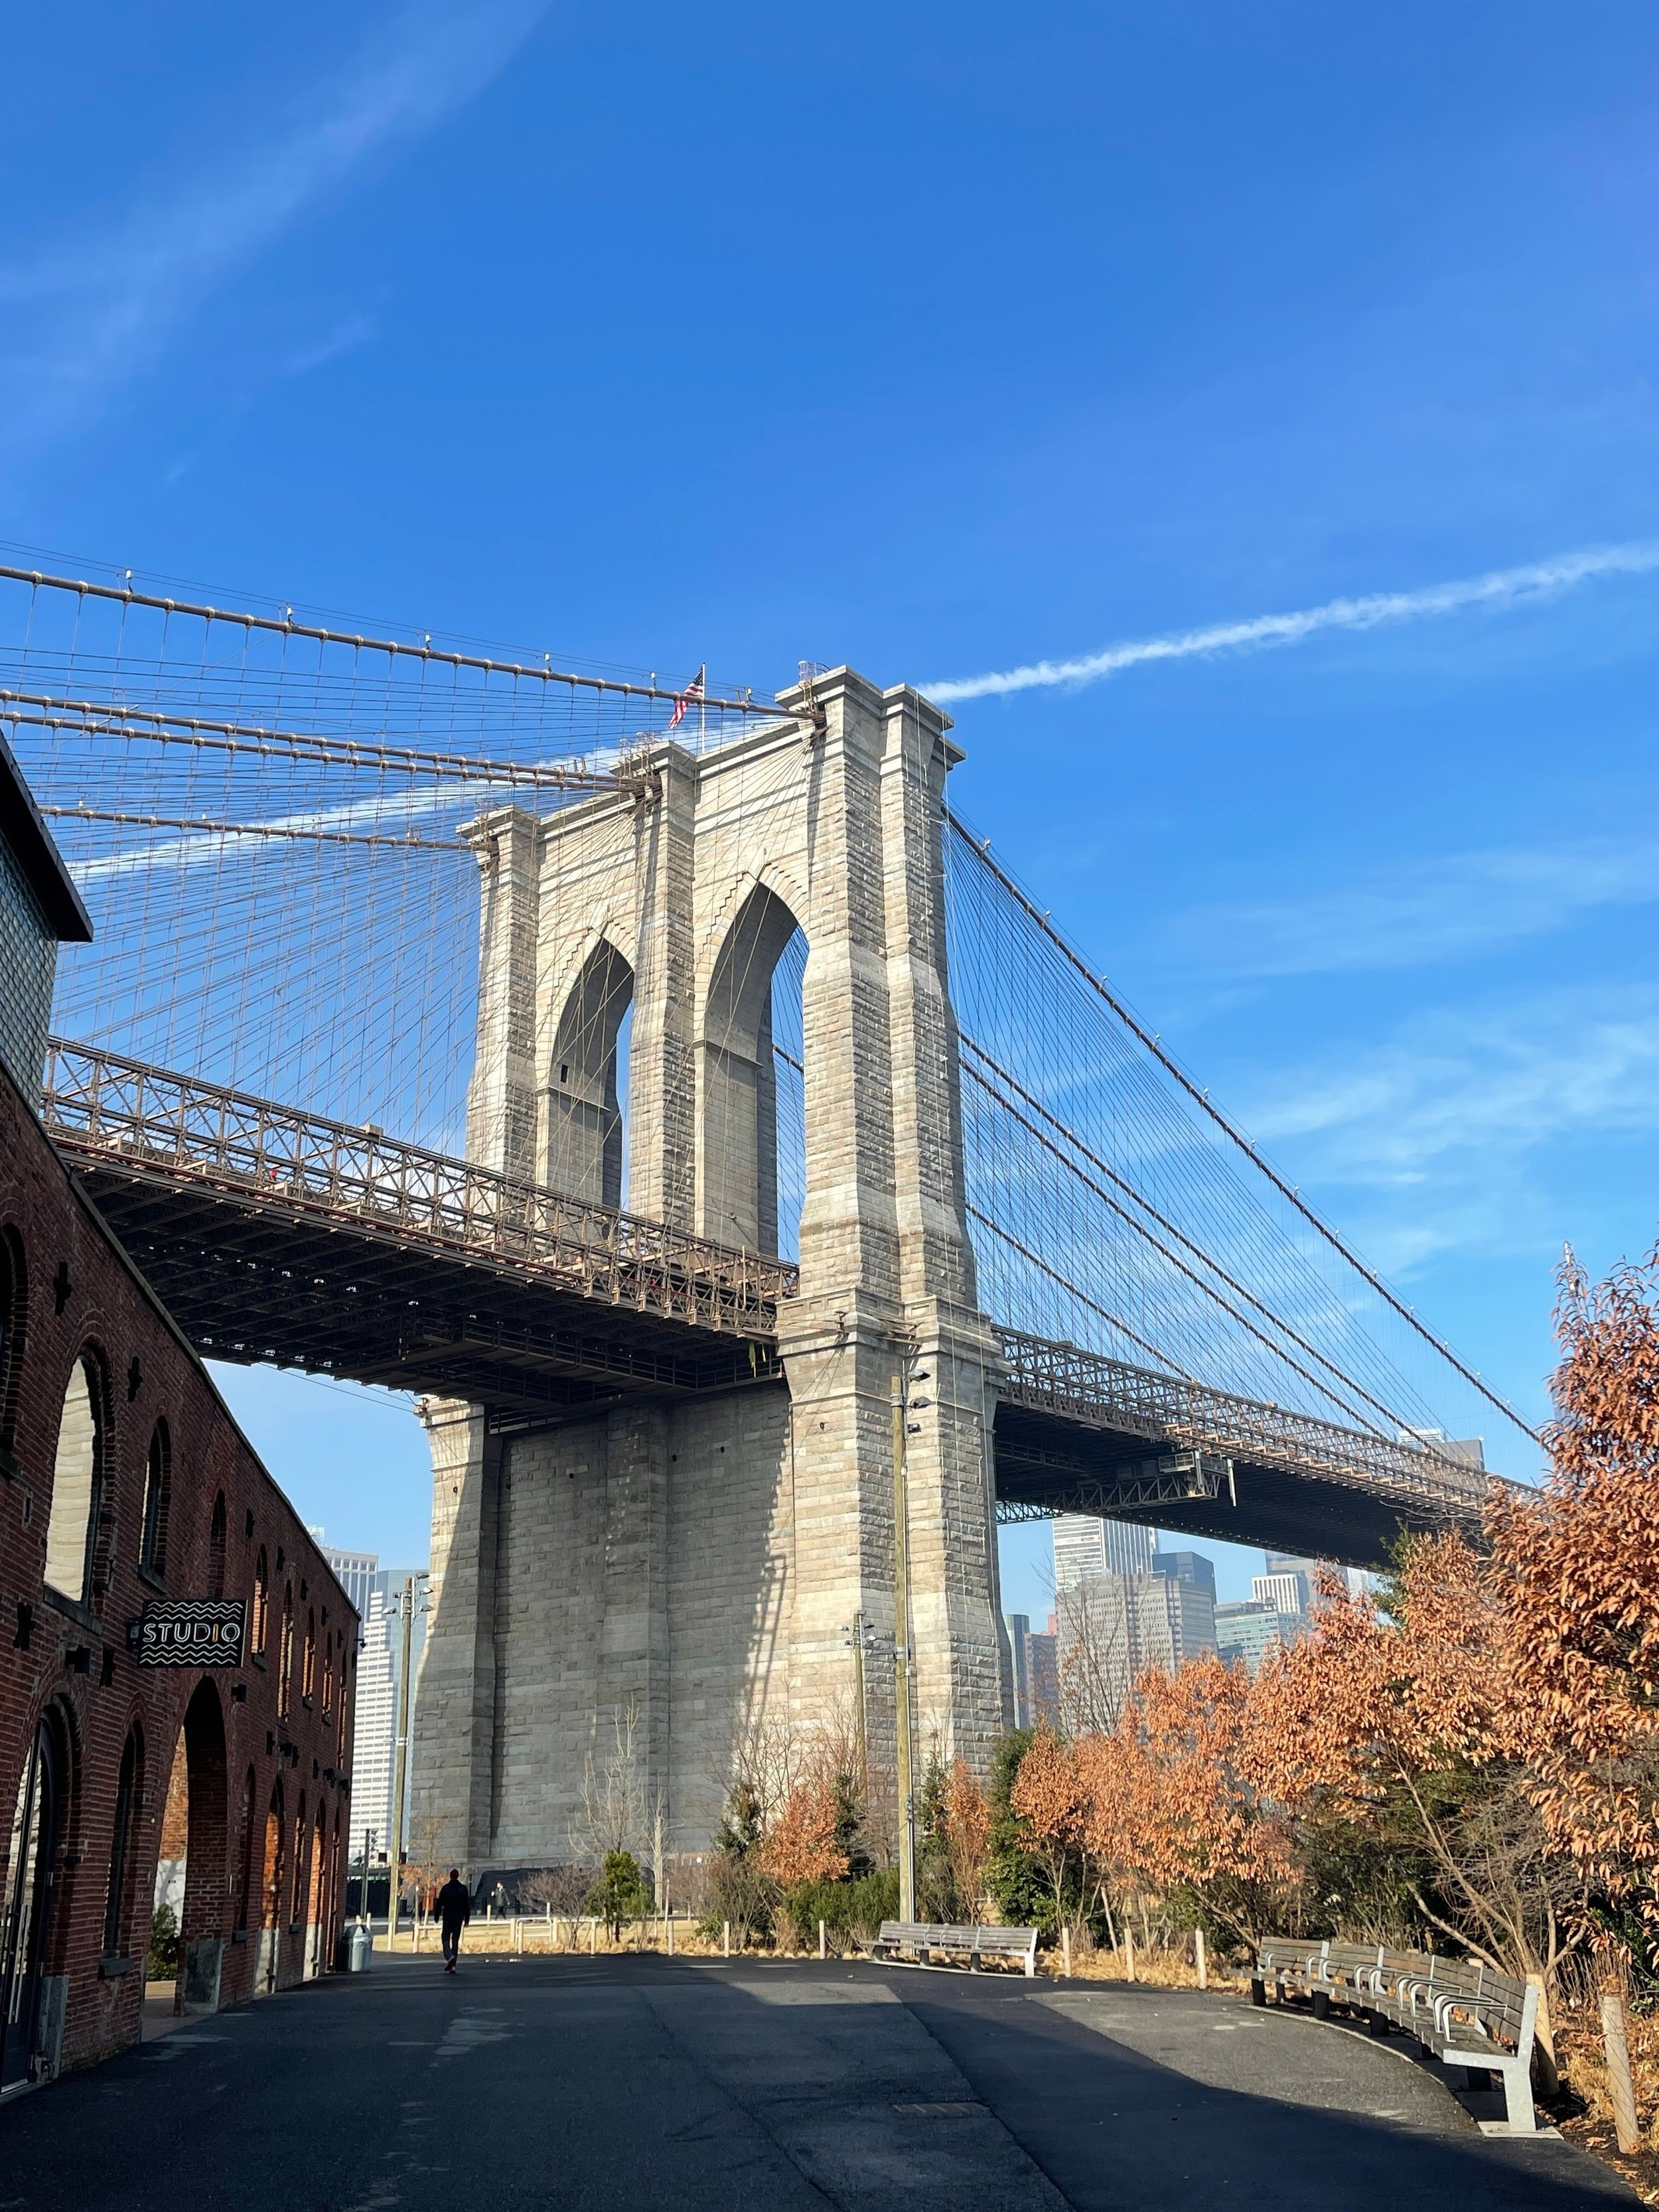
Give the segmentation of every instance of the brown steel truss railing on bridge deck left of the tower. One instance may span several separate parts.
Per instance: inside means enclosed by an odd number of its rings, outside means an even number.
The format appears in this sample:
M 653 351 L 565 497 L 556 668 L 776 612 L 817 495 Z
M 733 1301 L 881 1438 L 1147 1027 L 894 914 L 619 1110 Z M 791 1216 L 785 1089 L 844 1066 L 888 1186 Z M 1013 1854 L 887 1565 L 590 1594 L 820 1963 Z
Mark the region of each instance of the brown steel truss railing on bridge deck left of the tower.
M 799 1287 L 787 1261 L 58 1037 L 42 1115 L 82 1157 L 347 1217 L 664 1321 L 768 1340 Z

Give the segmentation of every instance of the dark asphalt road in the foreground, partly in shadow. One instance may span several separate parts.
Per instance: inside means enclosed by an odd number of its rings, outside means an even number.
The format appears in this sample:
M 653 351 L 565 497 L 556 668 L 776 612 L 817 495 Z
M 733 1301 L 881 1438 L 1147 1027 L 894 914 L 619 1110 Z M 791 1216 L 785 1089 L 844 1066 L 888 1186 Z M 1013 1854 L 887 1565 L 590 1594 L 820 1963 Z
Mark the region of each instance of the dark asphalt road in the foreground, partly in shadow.
M 834 1962 L 376 1958 L 0 2112 L 0 2212 L 1635 2201 L 1301 2015 Z

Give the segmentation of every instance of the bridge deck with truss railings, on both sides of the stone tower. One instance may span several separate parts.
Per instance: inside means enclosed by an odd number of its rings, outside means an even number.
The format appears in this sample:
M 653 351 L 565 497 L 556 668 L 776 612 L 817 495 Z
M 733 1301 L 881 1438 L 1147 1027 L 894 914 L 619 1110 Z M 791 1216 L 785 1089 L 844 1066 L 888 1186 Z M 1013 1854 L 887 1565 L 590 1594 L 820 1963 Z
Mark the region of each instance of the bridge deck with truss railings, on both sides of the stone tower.
M 520 1416 L 779 1380 L 785 1261 L 378 1130 L 55 1044 L 44 1117 L 190 1340 Z M 1004 1517 L 1110 1513 L 1383 1564 L 1473 1522 L 1478 1469 L 1000 1332 Z

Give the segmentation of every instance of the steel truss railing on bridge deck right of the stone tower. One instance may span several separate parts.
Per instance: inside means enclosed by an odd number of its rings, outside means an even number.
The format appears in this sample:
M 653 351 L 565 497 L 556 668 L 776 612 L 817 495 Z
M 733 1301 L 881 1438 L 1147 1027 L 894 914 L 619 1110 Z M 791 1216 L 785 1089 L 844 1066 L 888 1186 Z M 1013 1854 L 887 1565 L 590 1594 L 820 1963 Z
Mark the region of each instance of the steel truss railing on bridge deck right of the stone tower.
M 998 1329 L 998 1336 L 1009 1367 L 1000 1396 L 1060 1420 L 1318 1475 L 1371 1495 L 1391 1491 L 1455 1513 L 1478 1511 L 1495 1480 L 1429 1447 L 1338 1429 L 1312 1413 L 1128 1367 L 1079 1345 L 1018 1329 Z

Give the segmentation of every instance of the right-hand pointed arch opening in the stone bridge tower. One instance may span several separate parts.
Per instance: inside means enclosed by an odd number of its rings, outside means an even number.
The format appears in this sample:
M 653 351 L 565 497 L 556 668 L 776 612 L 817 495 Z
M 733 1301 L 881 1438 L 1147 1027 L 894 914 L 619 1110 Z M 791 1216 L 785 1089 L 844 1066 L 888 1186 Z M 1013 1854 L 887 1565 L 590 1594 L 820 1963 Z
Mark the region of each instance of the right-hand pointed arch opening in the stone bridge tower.
M 794 914 L 776 891 L 757 885 L 714 960 L 697 1040 L 697 1228 L 748 1252 L 785 1250 L 781 1197 L 792 1217 L 790 1241 L 801 1223 L 805 1139 L 796 1168 L 794 1130 L 803 1121 L 792 1108 L 801 1097 L 803 973 L 805 938 Z

